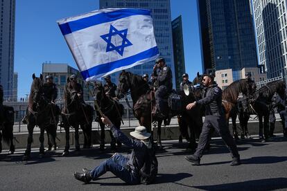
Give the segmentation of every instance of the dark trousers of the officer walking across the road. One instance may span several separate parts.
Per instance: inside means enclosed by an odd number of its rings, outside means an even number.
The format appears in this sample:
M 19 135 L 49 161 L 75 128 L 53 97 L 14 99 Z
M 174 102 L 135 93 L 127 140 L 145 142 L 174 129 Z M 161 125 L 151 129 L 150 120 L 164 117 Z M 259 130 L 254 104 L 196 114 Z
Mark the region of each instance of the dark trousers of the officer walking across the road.
M 218 134 L 223 138 L 223 141 L 227 145 L 229 152 L 232 154 L 232 158 L 239 157 L 238 150 L 234 139 L 232 138 L 229 129 L 227 127 L 227 122 L 223 115 L 221 116 L 205 116 L 205 122 L 202 126 L 202 131 L 198 141 L 198 148 L 195 151 L 195 156 L 199 158 L 202 157 L 205 146 L 207 145 L 209 138 L 212 133 L 212 128 L 216 130 Z

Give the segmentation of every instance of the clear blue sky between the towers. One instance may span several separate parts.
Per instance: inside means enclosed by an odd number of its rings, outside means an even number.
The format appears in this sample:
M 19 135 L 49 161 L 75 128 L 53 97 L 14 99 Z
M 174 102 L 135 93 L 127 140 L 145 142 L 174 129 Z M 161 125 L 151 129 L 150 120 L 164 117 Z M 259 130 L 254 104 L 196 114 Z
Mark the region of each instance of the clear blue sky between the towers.
M 16 2 L 15 72 L 18 98 L 25 98 L 32 74 L 42 72 L 43 62 L 68 63 L 76 67 L 56 21 L 98 9 L 98 0 L 29 0 Z M 202 71 L 198 12 L 195 0 L 171 0 L 171 18 L 182 15 L 186 72 Z

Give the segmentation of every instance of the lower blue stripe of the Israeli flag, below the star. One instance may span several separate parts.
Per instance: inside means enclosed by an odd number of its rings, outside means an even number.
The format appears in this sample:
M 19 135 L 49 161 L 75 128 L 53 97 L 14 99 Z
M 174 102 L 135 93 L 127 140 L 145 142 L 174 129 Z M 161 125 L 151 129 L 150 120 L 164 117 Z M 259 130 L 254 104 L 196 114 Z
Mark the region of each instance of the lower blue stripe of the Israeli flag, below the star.
M 82 71 L 82 78 L 86 80 L 89 77 L 95 76 L 95 75 L 101 75 L 105 74 L 109 71 L 112 71 L 114 69 L 120 68 L 122 66 L 128 66 L 130 64 L 134 64 L 135 62 L 139 60 L 144 60 L 148 57 L 154 57 L 155 55 L 159 54 L 159 50 L 157 46 L 148 49 L 147 51 L 143 51 L 141 53 L 138 53 L 137 55 L 132 55 L 130 57 L 124 58 L 122 60 L 116 60 L 114 62 L 109 62 L 107 64 L 101 64 L 98 66 L 94 66 L 91 69 L 87 69 L 86 71 Z

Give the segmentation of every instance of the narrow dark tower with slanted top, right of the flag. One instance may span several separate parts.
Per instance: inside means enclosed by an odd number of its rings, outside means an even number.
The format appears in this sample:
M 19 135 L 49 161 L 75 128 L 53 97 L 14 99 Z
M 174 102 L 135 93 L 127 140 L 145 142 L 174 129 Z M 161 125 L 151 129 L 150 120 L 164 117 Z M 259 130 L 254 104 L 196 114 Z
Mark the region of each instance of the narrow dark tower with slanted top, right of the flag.
M 177 17 L 171 22 L 173 28 L 173 57 L 175 59 L 175 87 L 180 90 L 182 74 L 185 73 L 184 63 L 184 43 L 182 35 L 182 16 Z

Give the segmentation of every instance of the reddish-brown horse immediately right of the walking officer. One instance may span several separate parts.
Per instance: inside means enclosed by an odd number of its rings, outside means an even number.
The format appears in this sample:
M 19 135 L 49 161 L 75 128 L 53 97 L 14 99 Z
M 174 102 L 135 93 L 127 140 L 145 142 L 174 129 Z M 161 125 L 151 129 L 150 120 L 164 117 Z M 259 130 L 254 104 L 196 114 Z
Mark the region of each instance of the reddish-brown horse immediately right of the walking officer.
M 241 79 L 232 82 L 226 89 L 223 90 L 222 94 L 222 102 L 223 107 L 225 109 L 225 119 L 227 121 L 227 125 L 229 122 L 229 118 L 232 117 L 232 129 L 234 138 L 238 138 L 237 129 L 236 129 L 236 104 L 237 99 L 240 93 L 245 96 L 252 96 L 256 91 L 256 84 L 252 80 Z

